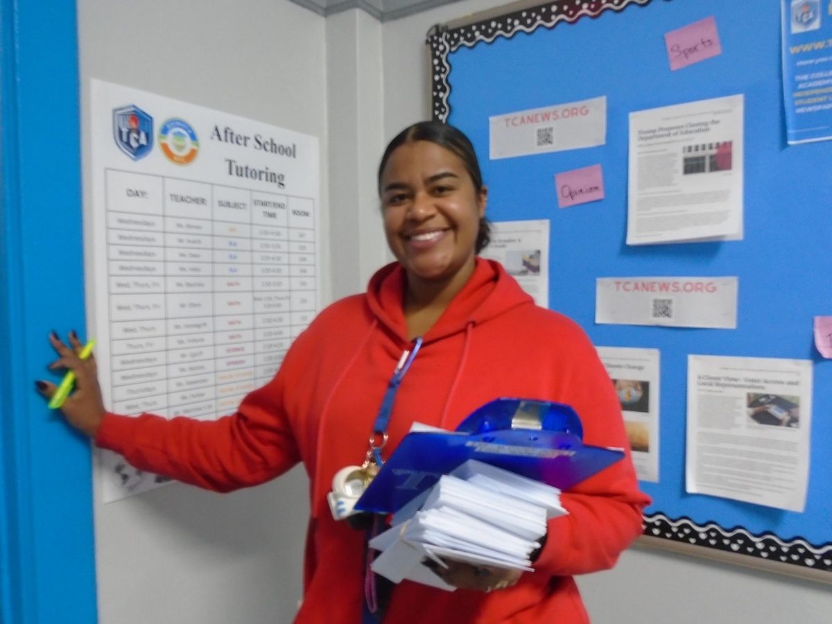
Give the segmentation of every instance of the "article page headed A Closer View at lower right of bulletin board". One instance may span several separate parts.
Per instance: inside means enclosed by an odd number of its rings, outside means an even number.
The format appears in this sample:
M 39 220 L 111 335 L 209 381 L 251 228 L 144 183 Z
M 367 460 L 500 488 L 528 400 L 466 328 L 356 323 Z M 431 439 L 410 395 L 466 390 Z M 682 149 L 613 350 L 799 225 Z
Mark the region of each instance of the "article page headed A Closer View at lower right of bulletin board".
M 811 360 L 689 355 L 687 492 L 803 512 L 811 420 Z

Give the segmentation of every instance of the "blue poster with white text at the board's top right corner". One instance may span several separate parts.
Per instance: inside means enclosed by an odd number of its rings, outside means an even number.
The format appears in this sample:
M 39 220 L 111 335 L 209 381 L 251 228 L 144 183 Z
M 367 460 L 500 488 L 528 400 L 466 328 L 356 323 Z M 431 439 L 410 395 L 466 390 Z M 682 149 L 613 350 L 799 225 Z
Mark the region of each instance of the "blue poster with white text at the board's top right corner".
M 832 139 L 832 0 L 780 0 L 790 145 Z

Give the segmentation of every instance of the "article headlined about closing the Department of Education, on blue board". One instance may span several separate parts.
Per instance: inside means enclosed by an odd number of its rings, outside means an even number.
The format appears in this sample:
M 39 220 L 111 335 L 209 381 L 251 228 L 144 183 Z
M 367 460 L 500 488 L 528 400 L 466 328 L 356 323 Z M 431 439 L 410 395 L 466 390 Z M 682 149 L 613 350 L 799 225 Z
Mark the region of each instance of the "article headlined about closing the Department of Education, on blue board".
M 627 245 L 742 238 L 743 103 L 630 113 Z

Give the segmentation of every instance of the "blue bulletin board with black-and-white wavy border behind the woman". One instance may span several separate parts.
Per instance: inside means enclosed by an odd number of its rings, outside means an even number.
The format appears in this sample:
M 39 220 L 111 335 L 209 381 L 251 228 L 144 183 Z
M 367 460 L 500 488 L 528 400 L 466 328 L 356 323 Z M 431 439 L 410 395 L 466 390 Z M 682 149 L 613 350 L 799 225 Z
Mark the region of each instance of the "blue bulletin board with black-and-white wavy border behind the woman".
M 826 15 L 830 2 L 820 5 Z M 664 34 L 711 16 L 722 53 L 671 71 Z M 433 116 L 471 137 L 489 218 L 550 220 L 552 309 L 595 344 L 661 351 L 660 480 L 641 483 L 653 498 L 646 542 L 832 580 L 832 362 L 812 334 L 814 316 L 832 314 L 832 142 L 787 145 L 779 3 L 553 0 L 434 27 L 427 44 Z M 626 245 L 629 113 L 735 94 L 745 96 L 743 240 Z M 606 145 L 489 160 L 489 116 L 600 96 Z M 606 198 L 559 210 L 553 175 L 597 163 Z M 596 324 L 596 279 L 626 275 L 737 276 L 737 328 Z M 813 361 L 805 512 L 686 493 L 689 354 Z

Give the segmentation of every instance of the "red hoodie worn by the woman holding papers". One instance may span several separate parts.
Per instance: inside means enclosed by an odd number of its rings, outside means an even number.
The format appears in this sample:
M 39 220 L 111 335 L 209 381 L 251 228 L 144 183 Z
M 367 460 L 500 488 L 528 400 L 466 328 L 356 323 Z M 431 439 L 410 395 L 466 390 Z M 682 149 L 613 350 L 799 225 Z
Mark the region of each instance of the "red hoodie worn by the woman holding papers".
M 310 475 L 305 594 L 297 624 L 357 624 L 364 596 L 364 533 L 336 522 L 326 494 L 340 468 L 360 464 L 390 375 L 407 339 L 404 270 L 388 265 L 365 295 L 330 305 L 301 334 L 269 384 L 237 414 L 214 422 L 107 414 L 96 443 L 136 468 L 227 492 L 263 483 L 302 461 Z M 477 267 L 433 328 L 399 387 L 389 453 L 418 421 L 443 428 L 499 397 L 570 404 L 584 441 L 627 448 L 617 395 L 595 349 L 571 320 L 533 305 L 498 263 Z M 402 582 L 385 624 L 588 622 L 573 574 L 616 562 L 641 533 L 649 498 L 631 461 L 562 495 L 569 515 L 549 522 L 547 542 L 514 587 L 444 592 Z

